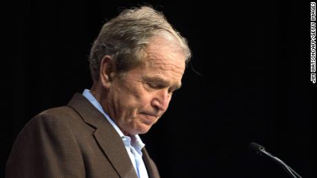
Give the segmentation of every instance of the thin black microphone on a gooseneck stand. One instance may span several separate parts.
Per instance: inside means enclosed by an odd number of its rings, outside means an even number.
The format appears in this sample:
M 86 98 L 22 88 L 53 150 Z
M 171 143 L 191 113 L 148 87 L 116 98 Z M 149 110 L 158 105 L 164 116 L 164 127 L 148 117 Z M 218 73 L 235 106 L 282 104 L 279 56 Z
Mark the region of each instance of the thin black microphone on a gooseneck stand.
M 284 168 L 284 170 L 287 173 L 289 173 L 289 175 L 291 175 L 292 177 L 294 177 L 294 178 L 297 178 L 297 177 L 303 178 L 303 177 L 300 177 L 300 175 L 298 175 L 298 173 L 296 173 L 295 170 L 293 170 L 292 168 L 287 166 L 287 164 L 285 164 L 282 160 L 278 159 L 278 157 L 274 157 L 274 155 L 272 155 L 271 153 L 265 151 L 264 146 L 261 146 L 259 144 L 256 144 L 256 143 L 252 142 L 251 144 L 249 144 L 249 149 L 252 150 L 252 151 L 255 151 L 257 155 L 267 156 L 267 157 L 273 159 L 274 162 L 280 164 L 280 166 L 282 166 Z

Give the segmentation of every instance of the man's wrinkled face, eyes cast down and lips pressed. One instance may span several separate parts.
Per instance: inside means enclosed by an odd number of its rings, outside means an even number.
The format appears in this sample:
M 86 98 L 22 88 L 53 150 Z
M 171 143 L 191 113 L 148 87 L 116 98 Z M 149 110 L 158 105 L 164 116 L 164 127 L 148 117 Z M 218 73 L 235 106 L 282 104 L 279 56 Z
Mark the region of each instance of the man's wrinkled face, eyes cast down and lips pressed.
M 181 87 L 185 56 L 165 38 L 145 48 L 142 65 L 116 77 L 103 107 L 125 135 L 146 133 L 165 113 L 172 93 Z

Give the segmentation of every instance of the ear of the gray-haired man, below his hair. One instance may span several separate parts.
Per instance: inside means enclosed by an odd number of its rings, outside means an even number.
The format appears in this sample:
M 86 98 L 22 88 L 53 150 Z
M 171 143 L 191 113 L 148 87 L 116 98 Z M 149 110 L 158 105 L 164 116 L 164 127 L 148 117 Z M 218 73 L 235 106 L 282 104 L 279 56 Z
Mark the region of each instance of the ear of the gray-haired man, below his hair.
M 116 66 L 111 56 L 104 56 L 100 63 L 99 79 L 101 81 L 101 85 L 106 89 L 109 89 L 112 84 L 115 68 Z

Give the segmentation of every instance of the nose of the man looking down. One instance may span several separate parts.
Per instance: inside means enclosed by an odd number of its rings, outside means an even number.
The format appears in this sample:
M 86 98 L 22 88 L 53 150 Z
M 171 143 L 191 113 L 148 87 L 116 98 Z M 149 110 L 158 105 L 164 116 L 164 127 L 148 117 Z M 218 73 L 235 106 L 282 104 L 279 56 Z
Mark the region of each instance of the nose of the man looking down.
M 159 111 L 166 111 L 168 104 L 170 104 L 171 97 L 172 93 L 169 93 L 167 89 L 160 89 L 155 93 L 151 103 L 152 107 Z

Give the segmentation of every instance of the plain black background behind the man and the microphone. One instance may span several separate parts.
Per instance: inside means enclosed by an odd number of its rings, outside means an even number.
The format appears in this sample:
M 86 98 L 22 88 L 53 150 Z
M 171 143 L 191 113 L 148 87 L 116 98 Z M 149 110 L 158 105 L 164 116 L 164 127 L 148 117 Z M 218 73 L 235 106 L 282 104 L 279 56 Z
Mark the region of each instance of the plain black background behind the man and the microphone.
M 0 177 L 26 122 L 91 87 L 87 58 L 105 19 L 143 2 L 1 5 Z M 193 52 L 170 109 L 142 135 L 161 176 L 287 177 L 249 153 L 249 142 L 257 142 L 301 176 L 316 177 L 310 3 L 147 2 L 164 12 Z

